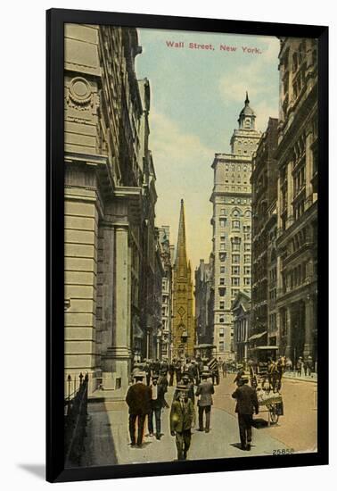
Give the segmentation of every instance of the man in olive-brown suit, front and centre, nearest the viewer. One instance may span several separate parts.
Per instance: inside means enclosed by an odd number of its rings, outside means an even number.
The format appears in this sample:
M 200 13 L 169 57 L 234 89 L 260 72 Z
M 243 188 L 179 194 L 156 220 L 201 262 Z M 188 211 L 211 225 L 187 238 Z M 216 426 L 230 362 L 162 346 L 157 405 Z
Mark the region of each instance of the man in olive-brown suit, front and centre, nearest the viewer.
M 194 426 L 195 412 L 191 399 L 187 396 L 187 387 L 177 386 L 177 401 L 171 406 L 169 415 L 171 436 L 176 437 L 177 460 L 185 461 L 191 445 L 191 429 Z

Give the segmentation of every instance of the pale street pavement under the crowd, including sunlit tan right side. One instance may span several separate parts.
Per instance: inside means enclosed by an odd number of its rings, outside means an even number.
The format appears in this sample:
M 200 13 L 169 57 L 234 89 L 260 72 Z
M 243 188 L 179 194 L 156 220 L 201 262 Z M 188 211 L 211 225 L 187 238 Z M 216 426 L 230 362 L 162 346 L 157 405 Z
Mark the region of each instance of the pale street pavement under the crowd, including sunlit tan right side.
M 233 380 L 234 375 L 229 374 L 226 379 L 221 378 L 219 386 L 215 387 L 210 433 L 197 431 L 196 423 L 188 460 L 270 455 L 282 449 L 294 453 L 316 450 L 315 382 L 284 379 L 284 416 L 280 417 L 277 425 L 270 427 L 267 426 L 267 412 L 255 416 L 251 452 L 244 452 L 240 449 L 235 402 L 231 397 L 235 387 Z M 174 388 L 168 387 L 168 404 L 171 404 Z M 126 403 L 92 402 L 88 405 L 88 412 L 90 420 L 83 465 L 169 462 L 177 459 L 175 438 L 169 432 L 169 409 L 162 412 L 160 441 L 148 436 L 145 423 L 144 445 L 141 448 L 131 448 L 129 445 Z

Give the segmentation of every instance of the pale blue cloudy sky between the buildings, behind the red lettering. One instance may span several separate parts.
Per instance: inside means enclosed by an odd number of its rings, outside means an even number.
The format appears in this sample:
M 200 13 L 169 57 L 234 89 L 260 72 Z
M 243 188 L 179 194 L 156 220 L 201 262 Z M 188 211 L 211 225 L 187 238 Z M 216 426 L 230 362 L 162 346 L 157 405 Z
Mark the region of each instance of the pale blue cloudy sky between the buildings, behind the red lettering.
M 211 251 L 211 204 L 216 152 L 229 152 L 245 91 L 257 128 L 277 117 L 279 41 L 275 37 L 234 36 L 138 29 L 143 53 L 136 57 L 138 79 L 151 85 L 150 147 L 157 174 L 157 225 L 169 225 L 177 244 L 180 199 L 185 200 L 187 254 L 193 269 Z M 184 48 L 167 41 L 184 42 Z M 189 43 L 214 49 L 190 49 Z M 219 46 L 236 51 L 220 51 Z M 260 54 L 243 52 L 242 46 Z

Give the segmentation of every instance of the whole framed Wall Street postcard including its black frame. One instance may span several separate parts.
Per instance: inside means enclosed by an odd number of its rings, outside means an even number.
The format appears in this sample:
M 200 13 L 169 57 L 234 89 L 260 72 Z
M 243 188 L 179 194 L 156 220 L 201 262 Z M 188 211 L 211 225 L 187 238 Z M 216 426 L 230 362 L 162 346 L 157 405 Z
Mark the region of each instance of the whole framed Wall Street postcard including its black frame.
M 328 462 L 327 36 L 47 12 L 47 480 Z

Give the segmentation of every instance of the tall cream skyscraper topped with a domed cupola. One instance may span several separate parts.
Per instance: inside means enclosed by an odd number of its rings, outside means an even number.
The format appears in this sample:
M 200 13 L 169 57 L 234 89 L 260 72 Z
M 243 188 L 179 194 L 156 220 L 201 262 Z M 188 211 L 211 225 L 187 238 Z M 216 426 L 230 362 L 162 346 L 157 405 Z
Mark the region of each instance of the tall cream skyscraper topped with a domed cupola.
M 259 143 L 248 95 L 234 129 L 230 154 L 215 154 L 213 204 L 214 307 L 216 355 L 232 358 L 232 302 L 241 289 L 251 293 L 251 155 Z

